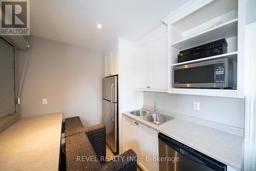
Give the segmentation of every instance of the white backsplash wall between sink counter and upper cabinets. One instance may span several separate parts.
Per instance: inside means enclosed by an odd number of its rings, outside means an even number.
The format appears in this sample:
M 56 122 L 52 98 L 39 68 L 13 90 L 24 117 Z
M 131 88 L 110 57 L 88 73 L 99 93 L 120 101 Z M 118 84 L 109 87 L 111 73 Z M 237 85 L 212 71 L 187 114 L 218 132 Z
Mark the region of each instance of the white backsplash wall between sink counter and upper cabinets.
M 244 129 L 244 99 L 144 92 L 144 104 Z M 200 102 L 200 111 L 193 102 Z

